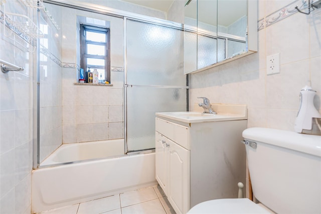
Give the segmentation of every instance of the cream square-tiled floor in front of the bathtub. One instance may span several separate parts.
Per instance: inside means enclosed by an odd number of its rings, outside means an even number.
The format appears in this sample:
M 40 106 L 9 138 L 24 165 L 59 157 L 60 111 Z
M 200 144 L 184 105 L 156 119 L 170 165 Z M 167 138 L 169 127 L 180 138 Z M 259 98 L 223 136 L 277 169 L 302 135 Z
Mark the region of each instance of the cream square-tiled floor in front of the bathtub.
M 159 186 L 124 192 L 72 206 L 52 209 L 44 214 L 176 214 Z

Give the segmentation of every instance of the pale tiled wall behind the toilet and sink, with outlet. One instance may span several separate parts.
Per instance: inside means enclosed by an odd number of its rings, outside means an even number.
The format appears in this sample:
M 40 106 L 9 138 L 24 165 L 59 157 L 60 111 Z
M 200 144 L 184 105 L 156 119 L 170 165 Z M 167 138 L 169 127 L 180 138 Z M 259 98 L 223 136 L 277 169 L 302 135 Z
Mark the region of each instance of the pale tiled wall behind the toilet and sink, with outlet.
M 292 1 L 259 1 L 259 19 Z M 258 32 L 258 53 L 191 75 L 191 104 L 197 97 L 211 103 L 248 105 L 248 127 L 293 131 L 299 91 L 311 81 L 314 104 L 321 112 L 320 10 L 296 13 Z M 266 56 L 280 53 L 280 74 L 266 76 Z

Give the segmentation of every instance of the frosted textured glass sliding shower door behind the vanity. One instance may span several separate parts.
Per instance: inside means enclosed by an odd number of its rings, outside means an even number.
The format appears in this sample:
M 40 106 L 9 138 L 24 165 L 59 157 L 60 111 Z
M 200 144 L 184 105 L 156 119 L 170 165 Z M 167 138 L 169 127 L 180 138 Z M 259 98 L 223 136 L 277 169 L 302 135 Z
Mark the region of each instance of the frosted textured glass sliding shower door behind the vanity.
M 184 33 L 125 20 L 125 138 L 127 151 L 155 147 L 155 112 L 187 110 Z

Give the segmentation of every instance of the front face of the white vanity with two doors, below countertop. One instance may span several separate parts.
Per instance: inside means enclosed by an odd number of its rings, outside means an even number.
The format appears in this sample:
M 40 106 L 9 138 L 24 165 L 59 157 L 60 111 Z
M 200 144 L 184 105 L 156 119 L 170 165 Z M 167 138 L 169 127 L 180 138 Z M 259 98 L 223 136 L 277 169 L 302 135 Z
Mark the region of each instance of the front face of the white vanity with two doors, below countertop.
M 181 145 L 187 143 L 188 127 L 156 118 L 156 180 L 177 213 L 190 207 L 190 150 Z

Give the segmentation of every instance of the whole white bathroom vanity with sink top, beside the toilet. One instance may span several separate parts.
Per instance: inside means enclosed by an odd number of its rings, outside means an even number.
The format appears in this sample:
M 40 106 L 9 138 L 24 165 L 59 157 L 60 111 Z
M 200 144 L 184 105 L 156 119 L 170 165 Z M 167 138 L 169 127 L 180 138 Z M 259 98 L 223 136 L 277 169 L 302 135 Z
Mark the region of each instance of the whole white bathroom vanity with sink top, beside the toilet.
M 218 113 L 156 113 L 156 180 L 177 213 L 217 198 L 236 198 L 245 183 L 246 105 L 212 105 Z M 203 110 L 200 108 L 200 110 Z

